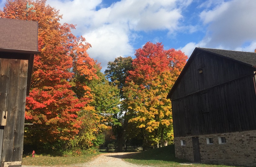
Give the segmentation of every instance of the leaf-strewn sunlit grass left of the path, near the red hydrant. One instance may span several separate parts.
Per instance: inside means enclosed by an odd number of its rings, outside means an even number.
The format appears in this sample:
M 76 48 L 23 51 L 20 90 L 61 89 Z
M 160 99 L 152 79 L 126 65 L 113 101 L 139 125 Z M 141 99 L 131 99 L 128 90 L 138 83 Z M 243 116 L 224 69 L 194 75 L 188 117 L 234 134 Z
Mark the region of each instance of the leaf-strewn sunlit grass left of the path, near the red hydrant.
M 92 160 L 92 158 L 99 155 L 100 152 L 95 151 L 83 151 L 79 155 L 64 155 L 62 157 L 42 156 L 36 155 L 36 157 L 24 157 L 22 158 L 22 165 L 33 165 L 33 166 L 62 166 L 79 164 Z

